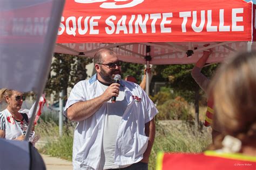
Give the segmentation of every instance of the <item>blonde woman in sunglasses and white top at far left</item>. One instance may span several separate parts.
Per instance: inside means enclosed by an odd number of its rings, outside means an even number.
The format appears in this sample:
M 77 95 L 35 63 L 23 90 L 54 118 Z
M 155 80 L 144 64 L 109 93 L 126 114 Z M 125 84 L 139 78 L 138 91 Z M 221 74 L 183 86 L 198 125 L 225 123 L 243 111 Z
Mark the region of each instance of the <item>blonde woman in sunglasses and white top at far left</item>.
M 0 100 L 7 103 L 0 112 L 0 137 L 10 140 L 24 140 L 29 118 L 26 113 L 19 113 L 25 100 L 23 93 L 10 89 L 0 90 Z

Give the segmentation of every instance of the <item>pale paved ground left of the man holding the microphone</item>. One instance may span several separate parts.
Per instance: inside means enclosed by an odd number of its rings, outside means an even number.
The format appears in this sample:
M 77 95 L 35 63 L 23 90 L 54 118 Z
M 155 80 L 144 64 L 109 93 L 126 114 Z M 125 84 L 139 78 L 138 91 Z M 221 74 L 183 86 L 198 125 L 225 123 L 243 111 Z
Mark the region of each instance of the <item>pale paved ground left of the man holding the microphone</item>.
M 60 158 L 50 157 L 49 155 L 41 154 L 47 170 L 72 170 L 72 162 Z

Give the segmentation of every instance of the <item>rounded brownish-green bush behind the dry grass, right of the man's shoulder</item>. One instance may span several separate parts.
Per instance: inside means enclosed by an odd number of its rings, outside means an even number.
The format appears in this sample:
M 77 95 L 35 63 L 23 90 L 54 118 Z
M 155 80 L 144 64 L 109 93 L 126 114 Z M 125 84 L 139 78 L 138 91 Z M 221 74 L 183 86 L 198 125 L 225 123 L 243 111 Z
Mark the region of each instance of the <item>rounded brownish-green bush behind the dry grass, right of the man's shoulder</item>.
M 157 105 L 157 108 L 159 111 L 157 120 L 193 120 L 184 98 L 176 97 L 175 99 L 169 99 L 164 104 Z

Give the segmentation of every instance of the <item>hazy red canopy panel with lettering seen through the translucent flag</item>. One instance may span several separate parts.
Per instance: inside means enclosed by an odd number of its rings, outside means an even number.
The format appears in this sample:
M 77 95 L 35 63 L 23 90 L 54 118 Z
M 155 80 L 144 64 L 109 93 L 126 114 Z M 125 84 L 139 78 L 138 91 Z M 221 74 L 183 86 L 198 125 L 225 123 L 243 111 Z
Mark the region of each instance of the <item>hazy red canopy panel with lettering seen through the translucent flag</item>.
M 3 42 L 6 44 L 24 43 L 25 39 L 26 42 L 30 43 L 42 43 L 48 29 L 47 24 L 44 23 L 49 22 L 50 17 L 48 15 L 52 6 L 51 3 L 24 4 L 24 6 L 17 6 L 14 9 L 0 11 L 1 18 L 5 18 L 5 21 L 0 21 L 0 25 L 3 24 L 1 31 L 4 32 L 0 38 L 4 39 Z M 48 9 L 48 11 L 42 9 Z M 33 15 L 31 15 L 31 11 Z M 38 26 L 38 23 L 42 23 L 42 25 Z

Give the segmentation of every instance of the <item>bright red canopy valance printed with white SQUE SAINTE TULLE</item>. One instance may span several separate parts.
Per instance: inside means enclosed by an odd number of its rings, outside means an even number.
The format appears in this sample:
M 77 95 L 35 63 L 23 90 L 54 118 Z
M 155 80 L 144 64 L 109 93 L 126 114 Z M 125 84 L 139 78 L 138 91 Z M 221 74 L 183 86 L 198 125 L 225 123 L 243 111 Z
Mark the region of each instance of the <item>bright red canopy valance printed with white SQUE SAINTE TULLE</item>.
M 221 42 L 252 39 L 252 4 L 242 0 L 183 0 L 182 3 L 170 0 L 88 2 L 89 0 L 66 1 L 57 43 Z M 137 4 L 120 8 L 134 3 Z M 106 9 L 104 6 L 115 8 Z M 196 11 L 197 17 L 193 17 L 193 11 Z M 203 30 L 196 30 L 195 26 L 198 27 L 201 23 L 201 11 L 205 12 L 205 23 Z M 184 13 L 180 12 L 187 12 L 188 17 L 182 16 Z M 156 20 L 153 16 L 156 16 Z M 146 19 L 147 17 L 149 18 Z M 196 25 L 192 27 L 193 18 Z M 223 24 L 220 24 L 221 20 L 224 21 Z M 232 21 L 235 20 L 237 22 L 232 26 Z M 82 25 L 80 29 L 79 25 Z M 239 31 L 236 27 L 238 31 L 235 31 L 235 25 L 243 26 L 243 30 Z M 229 31 L 221 31 L 225 26 L 229 27 Z M 109 33 L 107 30 L 110 30 Z

